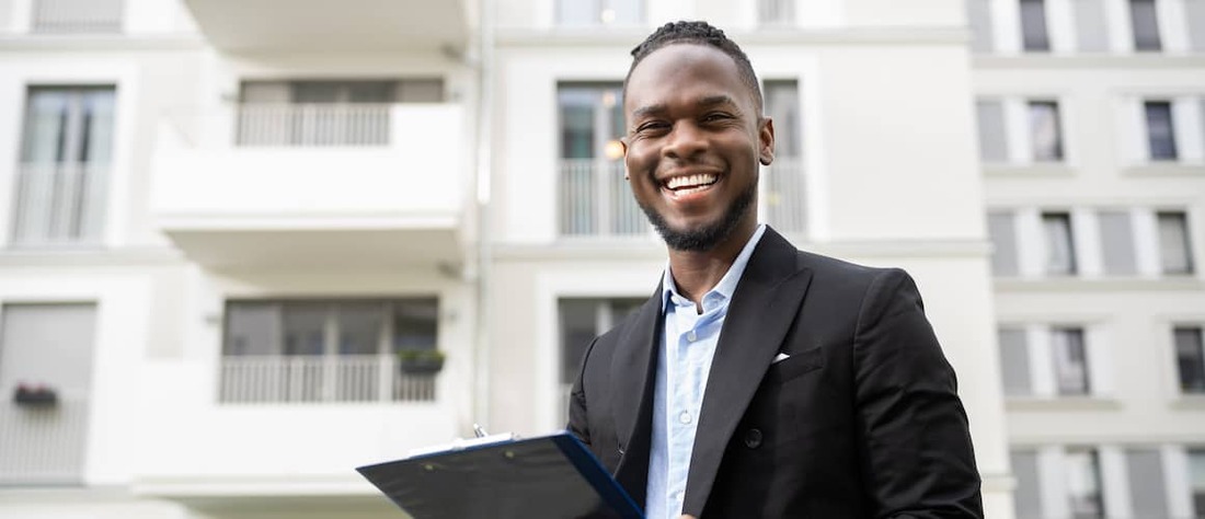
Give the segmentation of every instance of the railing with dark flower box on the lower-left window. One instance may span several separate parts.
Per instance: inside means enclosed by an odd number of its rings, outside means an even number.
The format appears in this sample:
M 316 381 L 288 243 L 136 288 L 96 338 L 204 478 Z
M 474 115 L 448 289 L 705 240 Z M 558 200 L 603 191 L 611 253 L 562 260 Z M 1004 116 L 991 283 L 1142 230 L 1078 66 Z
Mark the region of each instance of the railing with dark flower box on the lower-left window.
M 87 399 L 60 396 L 45 407 L 2 399 L 0 485 L 82 483 L 87 434 Z

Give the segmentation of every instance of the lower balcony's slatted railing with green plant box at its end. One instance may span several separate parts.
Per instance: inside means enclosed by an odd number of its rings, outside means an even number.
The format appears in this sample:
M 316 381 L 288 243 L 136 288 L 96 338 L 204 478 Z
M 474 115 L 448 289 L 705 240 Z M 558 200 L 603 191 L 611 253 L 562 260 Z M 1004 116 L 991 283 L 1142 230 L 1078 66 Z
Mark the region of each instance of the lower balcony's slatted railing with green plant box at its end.
M 430 402 L 435 374 L 404 374 L 394 355 L 224 356 L 224 403 Z

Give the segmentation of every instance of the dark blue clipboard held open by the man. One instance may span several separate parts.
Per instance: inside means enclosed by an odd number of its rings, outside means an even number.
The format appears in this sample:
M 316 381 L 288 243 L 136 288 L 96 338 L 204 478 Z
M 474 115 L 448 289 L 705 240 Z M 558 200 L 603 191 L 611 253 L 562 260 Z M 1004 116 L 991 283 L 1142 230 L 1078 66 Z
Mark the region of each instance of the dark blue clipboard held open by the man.
M 569 432 L 355 470 L 415 519 L 643 519 L 623 486 Z

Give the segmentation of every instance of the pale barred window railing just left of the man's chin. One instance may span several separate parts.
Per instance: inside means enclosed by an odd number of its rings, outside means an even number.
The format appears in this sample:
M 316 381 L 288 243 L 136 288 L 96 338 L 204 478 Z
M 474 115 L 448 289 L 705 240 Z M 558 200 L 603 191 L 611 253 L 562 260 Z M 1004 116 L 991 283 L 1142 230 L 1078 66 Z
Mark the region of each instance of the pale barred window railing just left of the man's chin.
M 623 179 L 623 163 L 560 161 L 563 236 L 648 236 L 648 222 Z

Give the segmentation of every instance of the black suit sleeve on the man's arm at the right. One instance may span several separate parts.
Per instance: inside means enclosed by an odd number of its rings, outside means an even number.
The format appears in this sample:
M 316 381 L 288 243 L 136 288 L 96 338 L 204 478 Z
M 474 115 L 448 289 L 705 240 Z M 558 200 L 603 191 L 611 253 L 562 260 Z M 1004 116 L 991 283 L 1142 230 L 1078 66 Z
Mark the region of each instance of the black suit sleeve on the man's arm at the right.
M 966 412 L 916 283 L 878 275 L 854 336 L 862 468 L 876 518 L 982 518 Z

